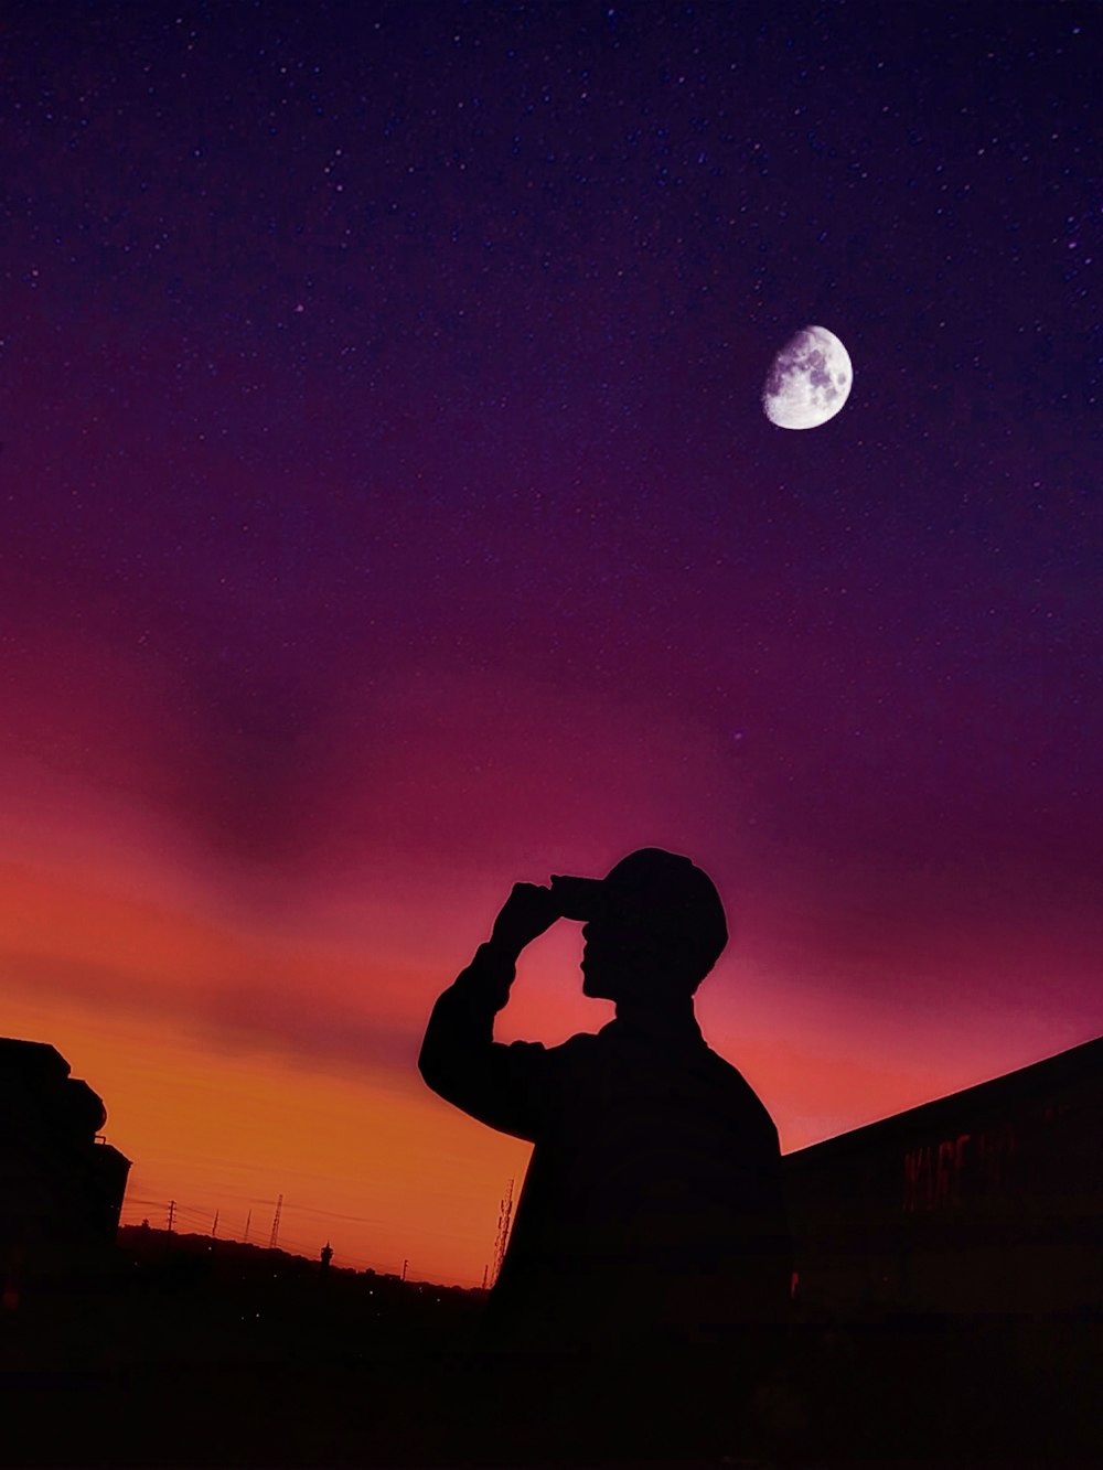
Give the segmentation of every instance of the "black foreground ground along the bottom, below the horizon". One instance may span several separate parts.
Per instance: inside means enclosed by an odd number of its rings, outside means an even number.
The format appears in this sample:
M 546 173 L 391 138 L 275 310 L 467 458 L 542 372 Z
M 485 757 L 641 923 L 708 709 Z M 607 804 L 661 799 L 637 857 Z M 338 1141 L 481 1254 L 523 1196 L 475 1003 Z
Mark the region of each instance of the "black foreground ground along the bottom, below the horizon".
M 496 1358 L 481 1294 L 174 1242 L 0 1317 L 4 1464 L 1103 1463 L 1093 1319 L 794 1322 L 746 1366 Z

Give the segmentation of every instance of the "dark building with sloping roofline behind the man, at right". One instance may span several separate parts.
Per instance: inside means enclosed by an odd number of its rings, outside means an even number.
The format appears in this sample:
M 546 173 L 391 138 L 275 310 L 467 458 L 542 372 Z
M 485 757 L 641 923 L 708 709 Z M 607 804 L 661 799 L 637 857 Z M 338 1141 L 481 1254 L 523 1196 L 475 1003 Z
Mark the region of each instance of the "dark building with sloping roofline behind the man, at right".
M 785 1158 L 835 1317 L 1103 1311 L 1103 1038 Z

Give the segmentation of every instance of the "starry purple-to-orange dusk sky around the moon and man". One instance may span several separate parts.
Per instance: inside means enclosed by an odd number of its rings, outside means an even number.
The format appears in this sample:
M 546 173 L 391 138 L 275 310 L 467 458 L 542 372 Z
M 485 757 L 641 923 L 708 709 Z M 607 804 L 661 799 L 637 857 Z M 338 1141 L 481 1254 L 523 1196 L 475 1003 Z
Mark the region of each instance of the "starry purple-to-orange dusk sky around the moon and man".
M 0 980 L 124 1219 L 475 1283 L 518 881 L 716 881 L 797 1148 L 1103 1032 L 1094 4 L 15 0 Z M 819 323 L 854 385 L 775 428 Z M 579 926 L 500 1035 L 609 1019 Z M 206 1222 L 206 1225 L 204 1225 Z

